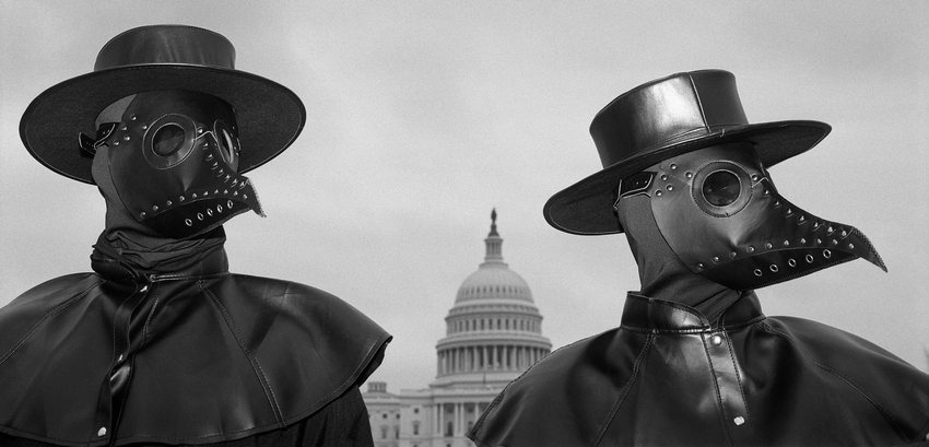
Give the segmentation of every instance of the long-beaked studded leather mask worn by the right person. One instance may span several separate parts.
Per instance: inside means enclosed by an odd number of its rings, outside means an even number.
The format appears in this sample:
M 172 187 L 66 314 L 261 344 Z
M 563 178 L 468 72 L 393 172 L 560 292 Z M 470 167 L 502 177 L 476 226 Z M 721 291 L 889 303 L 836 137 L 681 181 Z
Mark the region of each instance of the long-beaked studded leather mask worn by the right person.
M 649 197 L 661 235 L 693 273 L 743 291 L 858 258 L 886 271 L 860 231 L 781 197 L 746 143 L 701 149 L 648 169 L 655 180 L 639 195 Z M 714 205 L 704 193 L 705 180 L 719 173 L 738 178 L 733 185 L 739 189 L 726 205 Z

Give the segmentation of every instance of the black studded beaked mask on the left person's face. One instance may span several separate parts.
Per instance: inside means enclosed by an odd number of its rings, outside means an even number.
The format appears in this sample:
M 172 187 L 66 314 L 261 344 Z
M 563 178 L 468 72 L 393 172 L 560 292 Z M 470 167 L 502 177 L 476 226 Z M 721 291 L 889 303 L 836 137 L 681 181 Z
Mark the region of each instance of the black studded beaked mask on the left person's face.
M 111 185 L 128 214 L 156 233 L 187 238 L 249 209 L 263 215 L 251 183 L 237 174 L 235 113 L 222 99 L 139 93 L 104 109 L 97 129 L 95 139 L 81 136 L 81 149 L 101 158 L 94 180 L 104 195 Z

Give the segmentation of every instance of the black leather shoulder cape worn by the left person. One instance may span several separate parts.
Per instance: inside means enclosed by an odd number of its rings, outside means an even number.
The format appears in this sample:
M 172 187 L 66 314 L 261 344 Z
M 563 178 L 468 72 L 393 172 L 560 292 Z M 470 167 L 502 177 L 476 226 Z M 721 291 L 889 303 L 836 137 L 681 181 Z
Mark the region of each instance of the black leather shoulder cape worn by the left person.
M 228 273 L 222 249 L 170 274 L 94 270 L 0 309 L 0 432 L 71 446 L 268 433 L 356 393 L 390 339 L 326 292 Z

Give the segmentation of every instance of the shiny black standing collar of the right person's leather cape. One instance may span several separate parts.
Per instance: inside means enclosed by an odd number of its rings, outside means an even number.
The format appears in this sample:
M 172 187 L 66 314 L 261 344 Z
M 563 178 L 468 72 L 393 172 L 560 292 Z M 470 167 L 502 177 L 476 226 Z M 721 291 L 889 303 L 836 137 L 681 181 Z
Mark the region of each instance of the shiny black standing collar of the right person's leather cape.
M 763 318 L 754 291 L 743 292 L 715 322 L 691 306 L 630 292 L 623 307 L 621 326 L 636 331 L 693 332 L 714 327 L 731 328 Z

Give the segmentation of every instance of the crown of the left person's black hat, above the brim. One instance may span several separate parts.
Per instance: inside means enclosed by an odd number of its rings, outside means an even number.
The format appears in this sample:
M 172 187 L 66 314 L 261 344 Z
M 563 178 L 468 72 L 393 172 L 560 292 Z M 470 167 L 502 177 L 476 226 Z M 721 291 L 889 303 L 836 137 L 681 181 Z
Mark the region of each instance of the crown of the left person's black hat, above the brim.
M 235 48 L 223 35 L 187 25 L 151 25 L 126 31 L 97 54 L 94 71 L 174 63 L 235 69 Z

